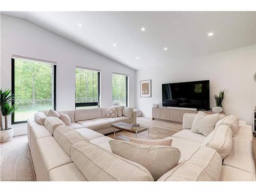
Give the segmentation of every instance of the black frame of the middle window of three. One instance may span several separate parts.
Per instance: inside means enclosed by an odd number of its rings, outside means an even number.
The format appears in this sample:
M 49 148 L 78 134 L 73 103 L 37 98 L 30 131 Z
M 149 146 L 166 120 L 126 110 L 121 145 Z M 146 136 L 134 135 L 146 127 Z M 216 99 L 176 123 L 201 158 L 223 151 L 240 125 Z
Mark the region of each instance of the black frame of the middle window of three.
M 94 69 L 82 68 L 82 67 L 75 67 L 75 68 L 83 69 L 83 70 L 91 70 L 91 71 L 98 72 L 97 73 L 98 74 L 98 102 L 77 103 L 76 102 L 76 79 L 75 79 L 75 109 L 79 108 L 79 107 L 82 107 L 82 106 L 97 106 L 99 108 L 100 107 L 100 71 L 94 70 Z

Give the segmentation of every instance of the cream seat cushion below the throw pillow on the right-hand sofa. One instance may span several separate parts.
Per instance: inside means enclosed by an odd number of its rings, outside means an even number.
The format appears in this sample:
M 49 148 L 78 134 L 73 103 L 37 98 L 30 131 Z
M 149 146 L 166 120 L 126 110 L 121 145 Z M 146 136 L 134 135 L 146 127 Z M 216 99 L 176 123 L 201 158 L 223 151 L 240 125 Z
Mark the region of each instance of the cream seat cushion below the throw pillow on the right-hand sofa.
M 203 134 L 194 133 L 191 130 L 182 130 L 176 134 L 173 134 L 172 137 L 185 139 L 188 141 L 193 141 L 197 143 L 203 143 L 206 137 Z

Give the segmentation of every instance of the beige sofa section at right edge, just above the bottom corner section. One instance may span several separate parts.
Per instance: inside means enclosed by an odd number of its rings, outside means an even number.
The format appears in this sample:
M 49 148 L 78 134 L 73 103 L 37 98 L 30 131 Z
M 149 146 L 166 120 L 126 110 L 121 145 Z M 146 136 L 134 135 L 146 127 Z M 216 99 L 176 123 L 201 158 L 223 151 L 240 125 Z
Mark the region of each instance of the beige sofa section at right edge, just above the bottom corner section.
M 244 138 L 233 137 L 232 151 L 224 159 L 223 165 L 229 165 L 251 174 L 255 174 L 252 141 Z

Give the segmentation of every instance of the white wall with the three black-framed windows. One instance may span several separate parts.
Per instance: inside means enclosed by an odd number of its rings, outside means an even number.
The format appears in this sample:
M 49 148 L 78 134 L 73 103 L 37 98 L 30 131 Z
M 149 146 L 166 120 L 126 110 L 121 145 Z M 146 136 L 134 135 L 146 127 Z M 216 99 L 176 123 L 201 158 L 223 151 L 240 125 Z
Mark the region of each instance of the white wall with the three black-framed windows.
M 57 110 L 75 108 L 75 66 L 101 70 L 101 106 L 112 105 L 112 73 L 129 75 L 135 105 L 135 71 L 24 19 L 1 14 L 1 88 L 11 89 L 12 54 L 57 62 Z M 10 122 L 10 117 L 9 117 Z M 11 125 L 24 134 L 24 125 Z

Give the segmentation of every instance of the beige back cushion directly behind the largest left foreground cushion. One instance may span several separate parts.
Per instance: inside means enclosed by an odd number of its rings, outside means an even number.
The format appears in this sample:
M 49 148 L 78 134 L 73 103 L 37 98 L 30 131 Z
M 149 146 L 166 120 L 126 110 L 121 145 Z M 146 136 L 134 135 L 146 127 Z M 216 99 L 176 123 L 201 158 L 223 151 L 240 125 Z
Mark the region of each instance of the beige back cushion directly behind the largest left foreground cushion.
M 72 145 L 84 140 L 81 135 L 66 125 L 58 126 L 53 132 L 53 137 L 69 156 Z

